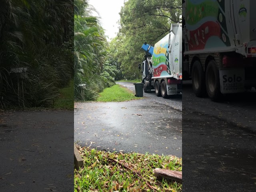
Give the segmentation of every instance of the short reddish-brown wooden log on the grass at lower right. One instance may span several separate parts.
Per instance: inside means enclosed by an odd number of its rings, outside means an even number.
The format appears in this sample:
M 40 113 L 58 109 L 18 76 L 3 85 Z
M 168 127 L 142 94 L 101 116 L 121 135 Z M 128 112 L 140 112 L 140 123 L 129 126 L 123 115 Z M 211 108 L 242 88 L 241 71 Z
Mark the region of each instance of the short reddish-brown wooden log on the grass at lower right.
M 169 180 L 182 182 L 182 171 L 173 171 L 173 170 L 156 168 L 154 172 L 157 178 L 166 178 Z

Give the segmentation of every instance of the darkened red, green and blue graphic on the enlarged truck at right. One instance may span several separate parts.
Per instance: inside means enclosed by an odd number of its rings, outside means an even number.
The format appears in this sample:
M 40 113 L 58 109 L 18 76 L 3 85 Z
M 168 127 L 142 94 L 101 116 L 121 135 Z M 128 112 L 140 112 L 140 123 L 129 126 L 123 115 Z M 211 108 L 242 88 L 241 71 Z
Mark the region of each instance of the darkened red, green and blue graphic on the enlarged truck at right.
M 186 1 L 186 34 L 188 49 L 201 50 L 211 46 L 230 46 L 227 35 L 224 0 Z

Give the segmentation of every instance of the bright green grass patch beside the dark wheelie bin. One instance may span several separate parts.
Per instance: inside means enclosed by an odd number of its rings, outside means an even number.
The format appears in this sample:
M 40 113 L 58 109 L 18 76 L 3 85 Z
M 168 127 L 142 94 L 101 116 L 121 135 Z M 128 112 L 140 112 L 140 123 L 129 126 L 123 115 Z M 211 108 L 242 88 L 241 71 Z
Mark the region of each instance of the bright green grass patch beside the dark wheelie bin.
M 100 96 L 97 98 L 97 101 L 122 102 L 141 98 L 142 97 L 134 96 L 134 93 L 132 91 L 129 91 L 126 88 L 116 84 L 112 87 L 104 89 L 104 91 L 101 92 Z

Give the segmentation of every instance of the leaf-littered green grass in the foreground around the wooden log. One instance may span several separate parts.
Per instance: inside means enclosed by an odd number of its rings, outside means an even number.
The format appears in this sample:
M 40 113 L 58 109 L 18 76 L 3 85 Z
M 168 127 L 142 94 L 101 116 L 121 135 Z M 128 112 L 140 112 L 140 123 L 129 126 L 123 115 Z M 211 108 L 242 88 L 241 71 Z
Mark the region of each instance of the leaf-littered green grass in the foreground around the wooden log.
M 155 168 L 182 171 L 181 158 L 156 154 L 112 153 L 79 146 L 78 150 L 80 150 L 84 165 L 80 170 L 74 170 L 74 192 L 151 191 L 146 182 L 159 192 L 180 192 L 182 190 L 180 182 L 158 180 L 153 172 Z M 125 164 L 140 174 L 143 179 L 132 170 L 111 162 L 108 158 Z

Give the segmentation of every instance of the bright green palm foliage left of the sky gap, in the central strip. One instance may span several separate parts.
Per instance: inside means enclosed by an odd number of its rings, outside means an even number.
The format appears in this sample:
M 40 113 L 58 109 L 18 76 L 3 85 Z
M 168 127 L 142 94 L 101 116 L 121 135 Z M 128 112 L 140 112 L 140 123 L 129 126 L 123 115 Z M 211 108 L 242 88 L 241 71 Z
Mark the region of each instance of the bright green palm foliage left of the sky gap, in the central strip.
M 118 73 L 96 11 L 87 0 L 74 1 L 74 93 L 75 100 L 95 100 L 114 84 Z

